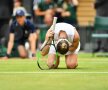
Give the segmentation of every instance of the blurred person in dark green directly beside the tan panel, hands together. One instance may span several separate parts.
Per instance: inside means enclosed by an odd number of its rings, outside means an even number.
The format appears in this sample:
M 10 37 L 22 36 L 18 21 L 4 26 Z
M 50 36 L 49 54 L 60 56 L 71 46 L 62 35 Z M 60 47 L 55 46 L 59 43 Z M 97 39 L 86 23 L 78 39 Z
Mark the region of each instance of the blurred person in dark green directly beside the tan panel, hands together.
M 78 6 L 77 0 L 63 0 L 58 3 L 57 13 L 61 14 L 64 22 L 72 25 L 77 24 L 76 10 Z

